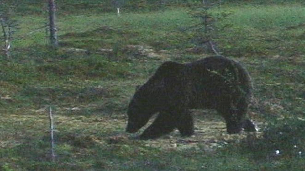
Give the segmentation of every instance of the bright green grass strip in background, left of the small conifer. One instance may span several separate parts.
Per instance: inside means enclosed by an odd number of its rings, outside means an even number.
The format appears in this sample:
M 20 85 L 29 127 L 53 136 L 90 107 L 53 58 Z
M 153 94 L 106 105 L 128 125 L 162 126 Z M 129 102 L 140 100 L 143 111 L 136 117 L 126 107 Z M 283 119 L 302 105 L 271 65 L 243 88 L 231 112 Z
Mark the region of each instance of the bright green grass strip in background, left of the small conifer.
M 30 30 L 43 27 L 43 19 L 23 17 L 20 23 L 22 29 L 18 33 L 26 35 Z M 160 13 L 125 13 L 121 16 L 115 13 L 89 13 L 58 17 L 60 43 L 90 50 L 112 48 L 118 41 L 125 44 L 148 44 L 157 46 L 158 49 L 184 47 L 188 45 L 188 42 L 184 41 L 188 39 L 188 35 L 179 32 L 179 29 L 191 24 L 185 9 Z M 15 44 L 16 47 L 27 47 L 29 44 L 46 45 L 46 36 L 45 29 L 40 29 L 26 35 L 26 39 L 16 40 Z

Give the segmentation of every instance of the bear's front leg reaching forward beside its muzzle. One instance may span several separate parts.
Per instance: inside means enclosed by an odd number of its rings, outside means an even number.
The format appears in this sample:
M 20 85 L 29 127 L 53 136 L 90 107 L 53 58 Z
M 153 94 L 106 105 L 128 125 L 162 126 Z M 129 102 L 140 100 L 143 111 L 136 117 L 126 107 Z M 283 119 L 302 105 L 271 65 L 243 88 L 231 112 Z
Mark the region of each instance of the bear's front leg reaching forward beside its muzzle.
M 175 119 L 168 112 L 160 112 L 154 122 L 140 135 L 140 139 L 155 139 L 172 132 Z

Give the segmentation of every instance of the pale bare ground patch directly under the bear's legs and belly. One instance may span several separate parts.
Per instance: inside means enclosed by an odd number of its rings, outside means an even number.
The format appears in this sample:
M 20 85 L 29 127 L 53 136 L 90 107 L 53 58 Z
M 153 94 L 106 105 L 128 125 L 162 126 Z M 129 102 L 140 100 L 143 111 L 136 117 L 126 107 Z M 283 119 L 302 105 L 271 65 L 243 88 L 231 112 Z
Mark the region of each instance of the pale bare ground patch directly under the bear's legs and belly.
M 146 141 L 146 146 L 176 150 L 196 148 L 210 151 L 221 148 L 228 143 L 257 138 L 260 134 L 261 132 L 241 132 L 240 134 L 230 135 L 227 133 L 223 121 L 197 120 L 195 124 L 195 135 L 192 137 L 181 137 L 179 131 L 176 130 L 170 135 L 164 135 L 159 139 Z

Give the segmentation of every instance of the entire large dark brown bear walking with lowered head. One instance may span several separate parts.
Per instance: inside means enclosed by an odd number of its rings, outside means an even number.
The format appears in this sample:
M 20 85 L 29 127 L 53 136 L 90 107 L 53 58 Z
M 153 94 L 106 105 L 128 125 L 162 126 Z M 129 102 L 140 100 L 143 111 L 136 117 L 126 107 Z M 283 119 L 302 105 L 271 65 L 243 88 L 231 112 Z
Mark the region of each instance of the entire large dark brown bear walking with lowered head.
M 128 108 L 127 132 L 136 132 L 154 113 L 156 120 L 140 135 L 153 139 L 177 128 L 181 135 L 193 134 L 193 118 L 188 109 L 216 109 L 229 134 L 242 130 L 251 98 L 252 82 L 239 63 L 220 55 L 192 63 L 165 62 L 133 95 Z M 255 125 L 247 125 L 255 131 Z

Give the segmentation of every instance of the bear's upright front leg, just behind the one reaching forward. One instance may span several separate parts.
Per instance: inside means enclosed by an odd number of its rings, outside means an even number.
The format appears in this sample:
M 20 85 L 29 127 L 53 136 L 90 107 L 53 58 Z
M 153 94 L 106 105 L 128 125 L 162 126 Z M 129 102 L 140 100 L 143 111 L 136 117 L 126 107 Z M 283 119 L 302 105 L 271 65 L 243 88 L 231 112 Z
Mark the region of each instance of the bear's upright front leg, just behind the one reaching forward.
M 194 122 L 191 112 L 188 110 L 176 114 L 178 116 L 176 127 L 182 136 L 191 136 L 194 134 Z

